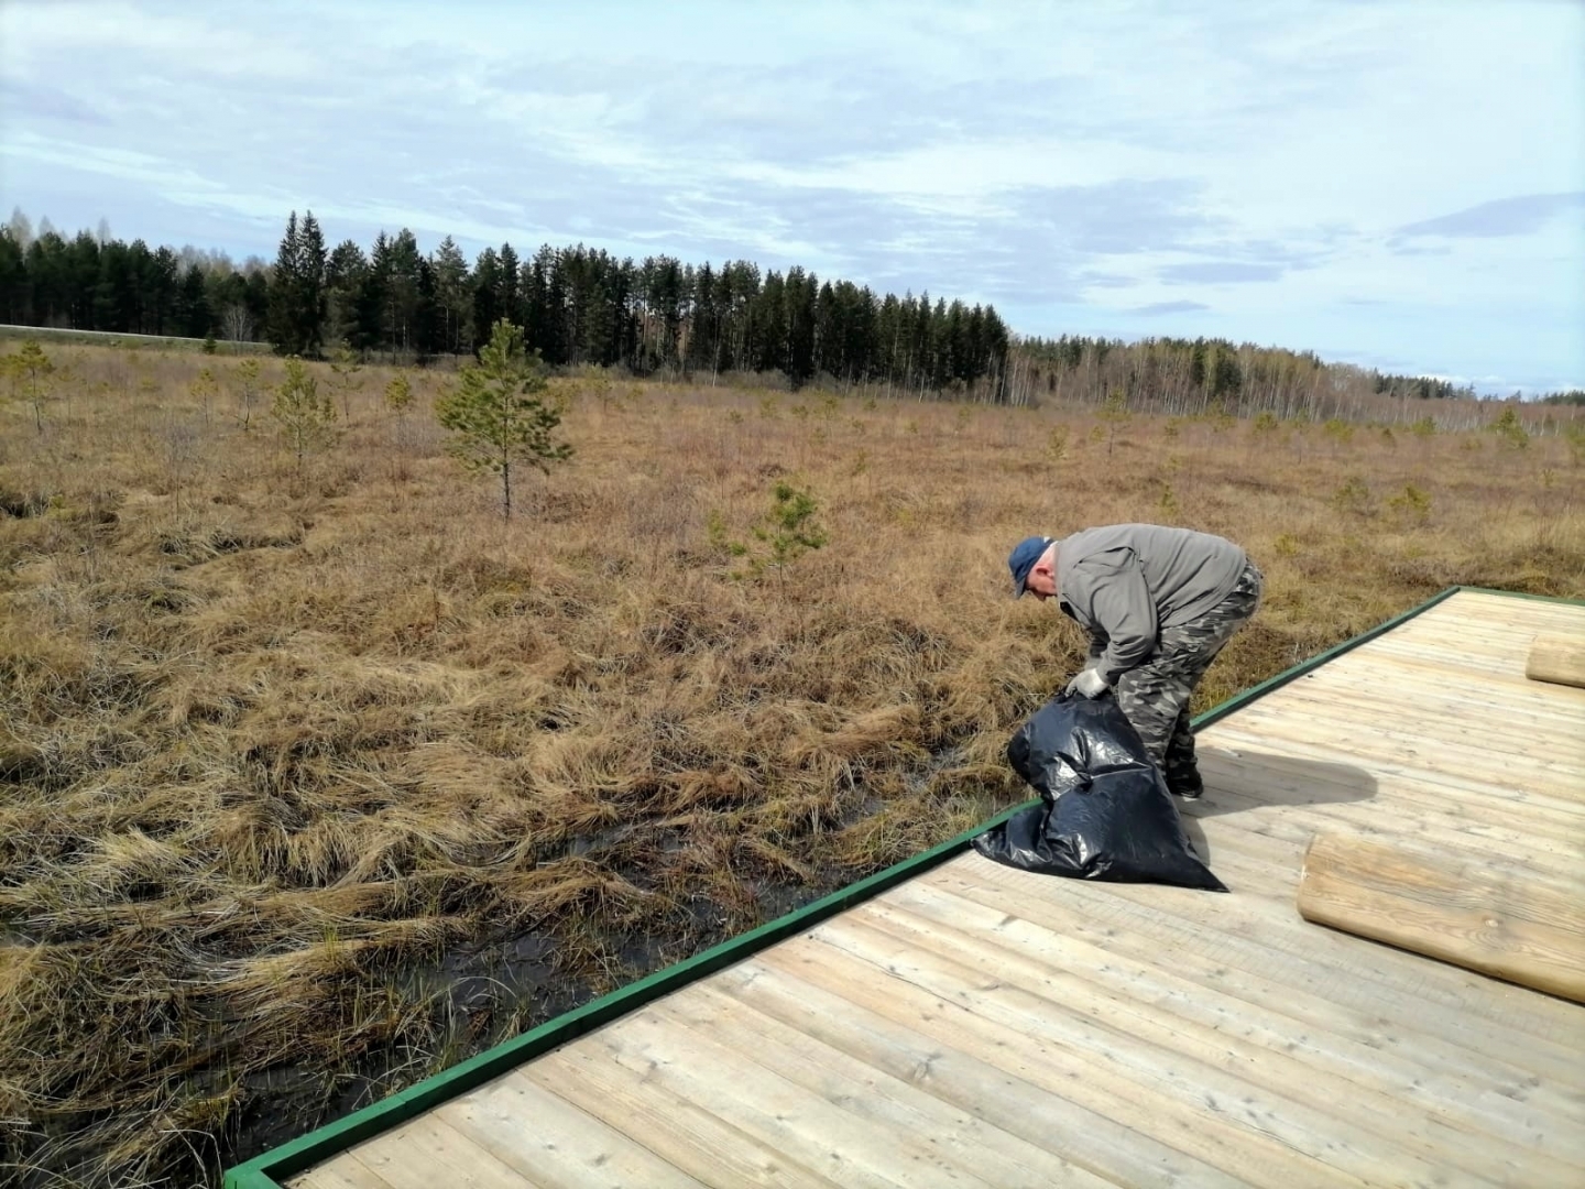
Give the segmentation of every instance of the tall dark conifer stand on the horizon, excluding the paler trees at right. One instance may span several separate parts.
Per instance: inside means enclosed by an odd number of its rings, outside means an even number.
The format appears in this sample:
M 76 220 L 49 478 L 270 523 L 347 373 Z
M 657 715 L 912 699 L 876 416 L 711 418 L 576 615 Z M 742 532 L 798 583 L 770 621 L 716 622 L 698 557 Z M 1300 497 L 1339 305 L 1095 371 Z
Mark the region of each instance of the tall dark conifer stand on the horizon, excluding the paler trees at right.
M 878 295 L 800 266 L 634 262 L 583 244 L 521 257 L 510 243 L 469 263 L 452 236 L 425 254 L 406 228 L 369 250 L 352 239 L 331 249 L 312 212 L 292 212 L 273 265 L 184 252 L 44 225 L 33 235 L 17 214 L 0 228 L 0 312 L 17 325 L 417 361 L 471 355 L 506 319 L 550 366 L 783 373 L 794 387 L 824 374 L 989 400 L 1000 398 L 1011 341 L 989 304 Z

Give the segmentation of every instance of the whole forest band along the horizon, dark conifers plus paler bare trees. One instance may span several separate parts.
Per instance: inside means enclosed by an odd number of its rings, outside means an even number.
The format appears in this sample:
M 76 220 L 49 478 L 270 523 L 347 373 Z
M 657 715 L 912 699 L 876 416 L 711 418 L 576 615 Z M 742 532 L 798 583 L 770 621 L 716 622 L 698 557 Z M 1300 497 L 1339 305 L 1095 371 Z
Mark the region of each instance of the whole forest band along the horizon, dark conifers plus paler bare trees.
M 521 255 L 502 243 L 469 263 L 452 236 L 426 254 L 406 228 L 380 231 L 368 250 L 352 239 L 328 247 L 312 212 L 292 212 L 273 262 L 241 265 L 222 252 L 125 243 L 103 222 L 68 238 L 48 219 L 35 231 L 17 211 L 0 227 L 0 322 L 10 325 L 423 363 L 471 355 L 502 317 L 553 368 L 636 376 L 758 373 L 794 388 L 829 379 L 1006 404 L 1122 400 L 1173 414 L 1284 417 L 1366 417 L 1379 398 L 1476 396 L 1444 379 L 1227 339 L 1018 336 L 991 304 L 883 295 L 747 260 L 634 262 L 585 244 Z

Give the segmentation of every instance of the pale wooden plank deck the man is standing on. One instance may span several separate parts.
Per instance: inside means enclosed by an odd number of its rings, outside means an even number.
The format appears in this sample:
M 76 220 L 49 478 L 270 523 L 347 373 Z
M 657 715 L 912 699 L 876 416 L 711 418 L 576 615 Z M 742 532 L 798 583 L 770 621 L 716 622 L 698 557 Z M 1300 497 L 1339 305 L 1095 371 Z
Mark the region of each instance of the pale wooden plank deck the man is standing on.
M 1295 910 L 1320 829 L 1580 880 L 1537 633 L 1585 607 L 1460 591 L 1205 728 L 1230 896 L 964 853 L 290 1184 L 1585 1184 L 1585 1007 Z

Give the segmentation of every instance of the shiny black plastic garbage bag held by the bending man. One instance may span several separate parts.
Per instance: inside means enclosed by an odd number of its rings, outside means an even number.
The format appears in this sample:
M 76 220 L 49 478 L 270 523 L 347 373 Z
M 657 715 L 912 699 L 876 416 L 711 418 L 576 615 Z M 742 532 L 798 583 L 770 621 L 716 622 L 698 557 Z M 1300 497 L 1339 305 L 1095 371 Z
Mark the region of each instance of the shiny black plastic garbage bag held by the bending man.
M 1227 891 L 1184 834 L 1173 794 L 1117 699 L 1057 694 L 1006 745 L 1040 793 L 973 840 L 987 859 L 1045 875 Z

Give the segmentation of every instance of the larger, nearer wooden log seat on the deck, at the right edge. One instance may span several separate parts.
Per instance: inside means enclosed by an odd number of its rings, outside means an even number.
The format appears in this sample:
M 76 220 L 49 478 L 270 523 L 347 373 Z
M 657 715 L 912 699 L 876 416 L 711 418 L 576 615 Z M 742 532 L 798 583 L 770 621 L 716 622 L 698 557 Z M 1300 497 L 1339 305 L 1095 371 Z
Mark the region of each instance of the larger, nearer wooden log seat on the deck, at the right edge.
M 1520 870 L 1404 845 L 1317 834 L 1304 851 L 1306 921 L 1585 1002 L 1585 883 L 1572 894 Z

